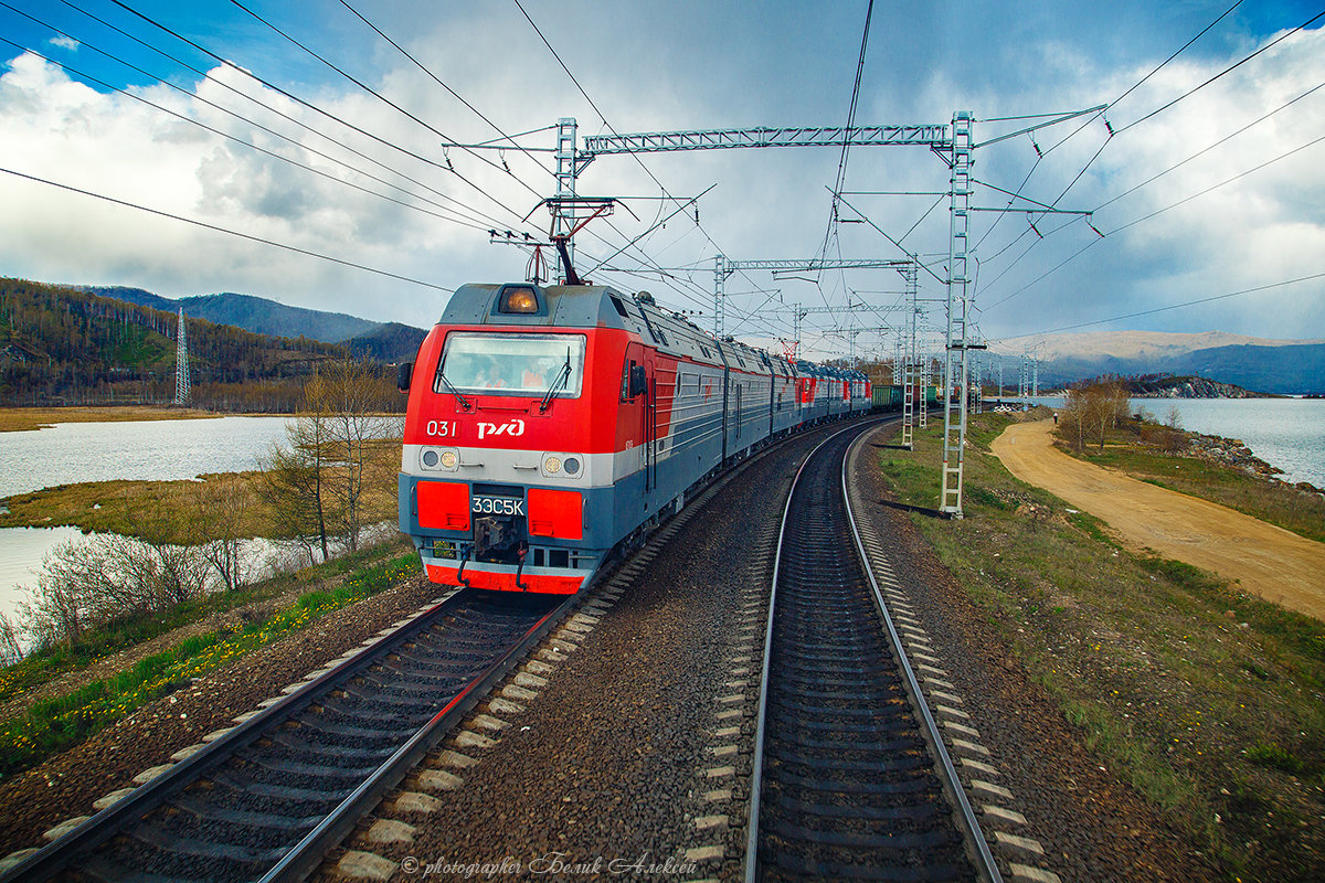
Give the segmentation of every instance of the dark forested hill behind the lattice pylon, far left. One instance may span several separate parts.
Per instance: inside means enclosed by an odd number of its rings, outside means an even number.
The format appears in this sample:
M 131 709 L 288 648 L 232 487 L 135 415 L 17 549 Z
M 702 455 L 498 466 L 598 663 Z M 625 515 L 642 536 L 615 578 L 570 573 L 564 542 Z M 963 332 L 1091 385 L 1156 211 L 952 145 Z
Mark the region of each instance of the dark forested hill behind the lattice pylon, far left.
M 346 348 L 189 318 L 193 404 L 292 410 L 302 379 Z M 86 290 L 0 278 L 0 405 L 168 402 L 179 318 Z

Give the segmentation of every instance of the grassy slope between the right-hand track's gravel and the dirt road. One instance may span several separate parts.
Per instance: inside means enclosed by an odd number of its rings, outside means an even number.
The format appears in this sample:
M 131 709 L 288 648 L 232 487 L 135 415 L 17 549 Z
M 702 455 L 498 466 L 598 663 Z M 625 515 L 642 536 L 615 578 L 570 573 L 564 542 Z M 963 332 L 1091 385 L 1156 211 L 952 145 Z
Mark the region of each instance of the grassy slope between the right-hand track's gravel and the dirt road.
M 988 454 L 1007 422 L 973 417 L 966 518 L 913 522 L 1101 764 L 1228 879 L 1325 879 L 1325 625 L 1121 548 Z M 939 432 L 917 442 L 880 461 L 931 508 Z

